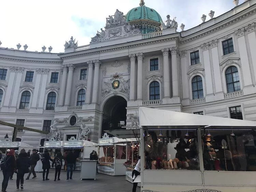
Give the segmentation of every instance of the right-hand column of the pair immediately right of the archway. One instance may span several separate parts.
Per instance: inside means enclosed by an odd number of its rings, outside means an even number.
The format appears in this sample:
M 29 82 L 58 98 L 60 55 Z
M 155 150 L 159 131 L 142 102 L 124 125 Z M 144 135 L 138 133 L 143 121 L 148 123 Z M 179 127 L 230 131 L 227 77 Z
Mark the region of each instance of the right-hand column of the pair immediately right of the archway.
M 143 54 L 137 54 L 138 70 L 137 70 L 137 100 L 142 100 L 142 88 L 143 88 Z

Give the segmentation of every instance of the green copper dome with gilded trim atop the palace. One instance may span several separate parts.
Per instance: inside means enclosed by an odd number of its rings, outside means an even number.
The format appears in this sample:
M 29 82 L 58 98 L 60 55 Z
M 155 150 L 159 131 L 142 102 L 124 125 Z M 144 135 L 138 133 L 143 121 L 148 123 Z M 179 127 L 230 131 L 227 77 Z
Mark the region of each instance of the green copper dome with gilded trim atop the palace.
M 140 28 L 143 34 L 160 30 L 163 22 L 161 16 L 144 4 L 144 0 L 141 0 L 139 7 L 131 9 L 126 14 L 126 22 Z

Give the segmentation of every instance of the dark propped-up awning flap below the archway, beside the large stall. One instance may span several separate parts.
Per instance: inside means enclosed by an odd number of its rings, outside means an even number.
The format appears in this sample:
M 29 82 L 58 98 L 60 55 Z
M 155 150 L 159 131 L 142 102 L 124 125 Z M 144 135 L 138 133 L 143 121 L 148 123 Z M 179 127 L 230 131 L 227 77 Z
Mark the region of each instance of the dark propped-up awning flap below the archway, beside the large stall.
M 139 129 L 120 129 L 120 130 L 106 130 L 106 133 L 114 135 L 117 138 L 140 138 L 140 130 Z

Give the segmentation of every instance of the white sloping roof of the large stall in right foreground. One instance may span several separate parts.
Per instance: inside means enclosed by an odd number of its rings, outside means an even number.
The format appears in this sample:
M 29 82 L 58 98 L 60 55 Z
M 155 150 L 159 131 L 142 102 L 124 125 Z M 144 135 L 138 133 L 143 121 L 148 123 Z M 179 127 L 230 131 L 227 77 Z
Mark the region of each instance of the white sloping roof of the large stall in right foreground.
M 148 129 L 252 129 L 256 121 L 245 121 L 207 115 L 174 112 L 162 109 L 139 107 L 140 126 Z

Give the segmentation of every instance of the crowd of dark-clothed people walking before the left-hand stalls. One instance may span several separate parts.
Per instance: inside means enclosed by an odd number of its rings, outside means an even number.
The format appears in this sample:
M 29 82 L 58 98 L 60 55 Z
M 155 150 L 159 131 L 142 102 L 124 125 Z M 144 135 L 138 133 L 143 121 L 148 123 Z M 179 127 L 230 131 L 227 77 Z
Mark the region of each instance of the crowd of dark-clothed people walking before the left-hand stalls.
M 44 153 L 41 154 L 38 150 L 33 149 L 32 154 L 30 154 L 25 149 L 21 149 L 18 154 L 18 150 L 8 149 L 6 155 L 2 158 L 2 152 L 0 152 L 0 161 L 1 161 L 1 171 L 3 172 L 3 181 L 2 181 L 2 192 L 6 192 L 9 179 L 13 180 L 13 174 L 17 174 L 17 190 L 24 189 L 24 175 L 28 173 L 26 180 L 30 178 L 30 175 L 33 174 L 33 178 L 36 178 L 37 175 L 34 171 L 35 166 L 39 160 L 42 161 L 43 169 L 43 181 L 49 180 L 48 174 L 50 169 L 50 162 L 52 162 L 52 167 L 55 166 L 55 177 L 54 181 L 60 180 L 60 171 L 62 167 L 62 160 L 65 160 L 65 169 L 67 171 L 67 181 L 72 180 L 73 169 L 76 163 L 76 156 L 72 151 L 66 151 L 64 156 L 60 152 L 56 153 L 54 159 L 51 158 L 47 149 L 44 150 Z M 58 176 L 58 177 L 57 177 Z

